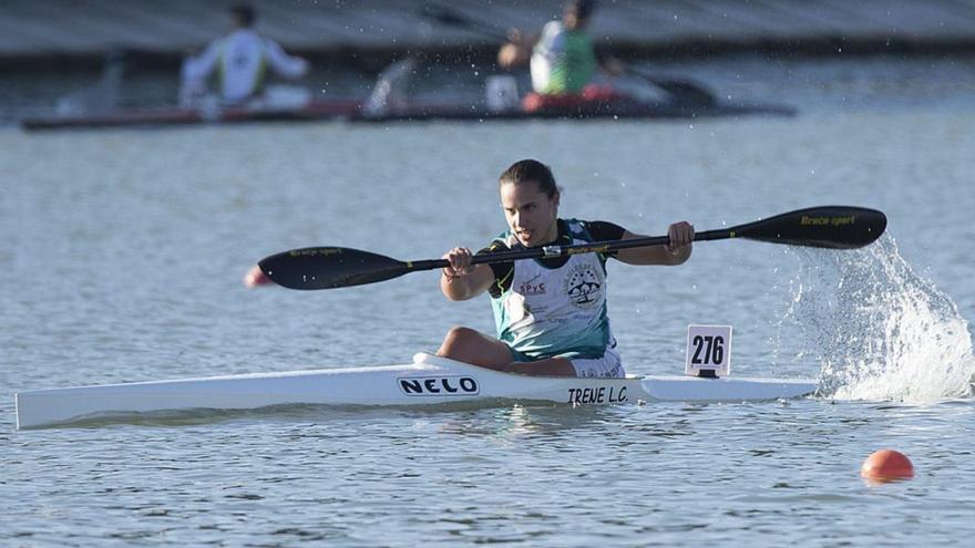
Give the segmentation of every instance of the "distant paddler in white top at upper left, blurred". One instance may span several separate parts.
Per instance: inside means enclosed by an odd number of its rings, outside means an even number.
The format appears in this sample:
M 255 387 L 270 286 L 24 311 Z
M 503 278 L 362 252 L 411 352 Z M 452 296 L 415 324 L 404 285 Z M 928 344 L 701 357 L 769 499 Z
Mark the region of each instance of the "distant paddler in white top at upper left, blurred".
M 308 62 L 291 56 L 274 40 L 254 29 L 254 9 L 246 4 L 230 8 L 232 32 L 211 42 L 196 58 L 183 64 L 181 103 L 192 103 L 206 92 L 206 81 L 216 72 L 220 99 L 225 103 L 244 103 L 260 97 L 267 69 L 285 79 L 308 74 Z

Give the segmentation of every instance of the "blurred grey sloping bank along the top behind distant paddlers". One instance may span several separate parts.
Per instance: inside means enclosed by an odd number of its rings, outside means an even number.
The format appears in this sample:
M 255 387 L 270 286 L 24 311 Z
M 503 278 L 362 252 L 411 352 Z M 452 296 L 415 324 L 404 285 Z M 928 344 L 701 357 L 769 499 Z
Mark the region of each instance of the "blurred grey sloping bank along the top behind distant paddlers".
M 0 7 L 0 70 L 92 71 L 122 54 L 136 71 L 177 70 L 227 30 L 229 0 L 7 0 Z M 335 0 L 249 2 L 256 28 L 317 66 L 372 71 L 406 54 L 492 65 L 497 41 L 424 15 L 444 6 L 503 35 L 535 31 L 562 0 Z M 760 54 L 940 55 L 975 52 L 975 0 L 740 2 L 604 0 L 592 33 L 624 59 Z

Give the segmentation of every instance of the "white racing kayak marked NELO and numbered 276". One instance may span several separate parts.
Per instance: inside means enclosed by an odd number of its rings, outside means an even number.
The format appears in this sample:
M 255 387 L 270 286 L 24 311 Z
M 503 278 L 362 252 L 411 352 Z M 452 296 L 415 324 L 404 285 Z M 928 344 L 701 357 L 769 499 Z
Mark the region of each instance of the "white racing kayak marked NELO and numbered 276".
M 161 411 L 250 410 L 271 405 L 437 405 L 546 402 L 608 405 L 653 401 L 742 402 L 810 394 L 809 379 L 526 376 L 418 353 L 413 363 L 254 373 L 19 392 L 17 427 Z

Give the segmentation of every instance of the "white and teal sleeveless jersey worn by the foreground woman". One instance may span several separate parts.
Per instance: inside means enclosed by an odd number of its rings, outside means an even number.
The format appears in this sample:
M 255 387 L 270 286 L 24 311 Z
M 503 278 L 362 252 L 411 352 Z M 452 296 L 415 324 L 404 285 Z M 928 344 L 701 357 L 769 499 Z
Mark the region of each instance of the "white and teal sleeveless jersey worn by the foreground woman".
M 560 219 L 557 245 L 596 241 L 589 226 Z M 616 225 L 601 226 L 614 227 L 615 239 L 623 234 Z M 517 247 L 515 236 L 506 231 L 486 251 Z M 515 359 L 601 358 L 614 344 L 606 316 L 606 259 L 603 254 L 581 254 L 555 262 L 525 259 L 492 267 L 495 283 L 490 292 L 497 338 Z

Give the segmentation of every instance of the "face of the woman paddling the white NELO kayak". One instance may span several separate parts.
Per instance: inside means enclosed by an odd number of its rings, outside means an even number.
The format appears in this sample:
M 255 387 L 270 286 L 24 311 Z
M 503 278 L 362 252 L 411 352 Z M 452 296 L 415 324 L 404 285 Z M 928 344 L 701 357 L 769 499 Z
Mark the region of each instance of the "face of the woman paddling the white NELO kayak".
M 542 246 L 558 236 L 558 193 L 548 196 L 535 182 L 501 185 L 501 207 L 507 227 L 525 247 Z

